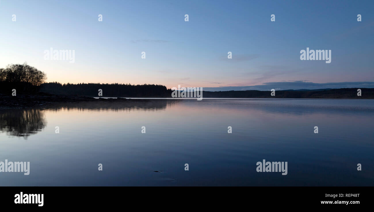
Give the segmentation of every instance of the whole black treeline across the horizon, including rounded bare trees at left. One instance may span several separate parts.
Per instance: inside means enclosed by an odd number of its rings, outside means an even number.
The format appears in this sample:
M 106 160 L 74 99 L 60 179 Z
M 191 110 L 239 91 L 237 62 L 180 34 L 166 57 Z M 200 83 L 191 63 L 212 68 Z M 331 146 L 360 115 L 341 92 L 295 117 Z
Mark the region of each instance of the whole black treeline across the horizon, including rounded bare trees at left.
M 24 64 L 10 64 L 0 68 L 0 92 L 10 93 L 16 89 L 17 93 L 44 92 L 60 95 L 77 95 L 88 97 L 172 97 L 172 90 L 165 85 L 157 84 L 103 84 L 79 83 L 61 84 L 60 82 L 46 82 L 47 76 L 35 67 Z M 99 96 L 99 89 L 102 96 Z M 279 90 L 275 96 L 270 91 L 204 91 L 205 98 L 327 98 L 327 99 L 374 99 L 374 88 L 360 88 L 364 95 L 357 95 L 358 88 L 318 89 L 318 90 Z

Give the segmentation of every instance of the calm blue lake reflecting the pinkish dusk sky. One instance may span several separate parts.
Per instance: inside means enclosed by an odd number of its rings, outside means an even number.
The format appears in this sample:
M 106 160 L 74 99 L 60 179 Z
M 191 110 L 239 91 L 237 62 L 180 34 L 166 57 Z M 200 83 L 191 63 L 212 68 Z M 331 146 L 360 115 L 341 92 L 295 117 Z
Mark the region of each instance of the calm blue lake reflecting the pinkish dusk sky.
M 29 175 L 0 172 L 0 185 L 374 186 L 373 118 L 374 100 L 340 99 L 0 110 L 0 161 L 30 162 Z M 287 174 L 257 172 L 263 159 L 287 162 Z

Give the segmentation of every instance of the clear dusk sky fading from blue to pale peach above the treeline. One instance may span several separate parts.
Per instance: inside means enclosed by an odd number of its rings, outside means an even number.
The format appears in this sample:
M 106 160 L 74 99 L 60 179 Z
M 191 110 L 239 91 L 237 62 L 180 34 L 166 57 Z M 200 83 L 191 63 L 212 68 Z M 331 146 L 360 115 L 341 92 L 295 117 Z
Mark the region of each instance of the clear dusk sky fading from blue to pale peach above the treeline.
M 374 87 L 373 9 L 371 0 L 0 0 L 0 68 L 27 62 L 61 83 Z M 331 63 L 300 60 L 307 47 L 331 50 Z M 50 48 L 74 50 L 74 63 L 46 59 Z

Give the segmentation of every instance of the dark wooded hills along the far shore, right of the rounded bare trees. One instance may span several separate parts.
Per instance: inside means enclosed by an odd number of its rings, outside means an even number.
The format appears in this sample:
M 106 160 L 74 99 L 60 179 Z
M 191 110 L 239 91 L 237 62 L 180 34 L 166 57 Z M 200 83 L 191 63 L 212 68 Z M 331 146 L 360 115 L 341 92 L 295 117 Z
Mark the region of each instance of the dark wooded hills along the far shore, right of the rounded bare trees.
M 41 85 L 40 91 L 51 94 L 98 96 L 102 89 L 102 97 L 171 97 L 172 90 L 163 85 L 130 85 L 130 84 L 60 84 L 49 82 Z M 362 96 L 357 96 L 361 89 Z M 374 99 L 374 88 L 340 88 L 340 89 L 300 89 L 279 90 L 275 96 L 271 91 L 203 91 L 203 98 L 310 98 L 310 99 Z

